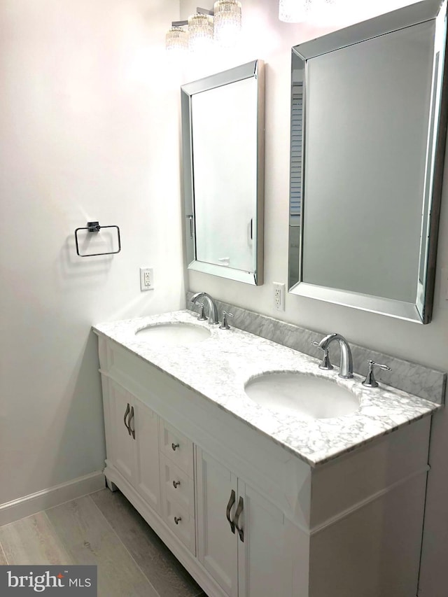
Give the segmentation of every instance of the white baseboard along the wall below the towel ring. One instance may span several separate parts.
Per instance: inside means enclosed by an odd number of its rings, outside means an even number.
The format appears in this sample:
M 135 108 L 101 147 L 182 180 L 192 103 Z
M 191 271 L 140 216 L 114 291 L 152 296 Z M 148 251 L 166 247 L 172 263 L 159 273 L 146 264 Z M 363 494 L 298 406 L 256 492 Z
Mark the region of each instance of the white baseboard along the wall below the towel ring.
M 0 526 L 19 520 L 21 518 L 41 512 L 53 506 L 58 506 L 69 500 L 87 496 L 99 489 L 104 489 L 104 474 L 102 471 L 95 471 L 90 475 L 72 479 L 66 483 L 43 489 L 37 493 L 31 493 L 12 502 L 0 505 Z

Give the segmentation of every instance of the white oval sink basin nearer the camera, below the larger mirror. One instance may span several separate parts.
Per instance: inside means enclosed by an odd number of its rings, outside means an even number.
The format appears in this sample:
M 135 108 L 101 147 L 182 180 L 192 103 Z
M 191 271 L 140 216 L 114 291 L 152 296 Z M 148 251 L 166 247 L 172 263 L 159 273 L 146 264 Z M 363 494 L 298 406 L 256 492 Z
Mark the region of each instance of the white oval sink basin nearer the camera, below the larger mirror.
M 249 380 L 244 390 L 258 405 L 276 412 L 311 419 L 330 419 L 351 414 L 359 400 L 335 382 L 300 372 L 272 372 Z

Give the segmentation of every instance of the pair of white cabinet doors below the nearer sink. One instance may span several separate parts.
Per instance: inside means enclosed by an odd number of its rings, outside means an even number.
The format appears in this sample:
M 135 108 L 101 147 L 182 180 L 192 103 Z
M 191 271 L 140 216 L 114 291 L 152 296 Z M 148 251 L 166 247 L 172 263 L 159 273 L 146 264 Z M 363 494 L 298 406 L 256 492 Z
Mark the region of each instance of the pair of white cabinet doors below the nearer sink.
M 198 558 L 226 595 L 293 594 L 289 526 L 278 507 L 197 450 Z

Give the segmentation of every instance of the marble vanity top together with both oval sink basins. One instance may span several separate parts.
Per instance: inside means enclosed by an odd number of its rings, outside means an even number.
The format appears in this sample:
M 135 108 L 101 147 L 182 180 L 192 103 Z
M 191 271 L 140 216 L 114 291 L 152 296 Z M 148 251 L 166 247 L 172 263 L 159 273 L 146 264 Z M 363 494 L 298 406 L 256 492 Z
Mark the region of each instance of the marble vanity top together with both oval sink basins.
M 125 349 L 120 355 L 130 370 L 134 357 L 149 363 L 202 396 L 207 409 L 216 405 L 312 467 L 440 408 L 385 384 L 366 387 L 356 373 L 325 370 L 325 339 L 319 365 L 307 354 L 221 325 L 183 310 L 93 329 Z

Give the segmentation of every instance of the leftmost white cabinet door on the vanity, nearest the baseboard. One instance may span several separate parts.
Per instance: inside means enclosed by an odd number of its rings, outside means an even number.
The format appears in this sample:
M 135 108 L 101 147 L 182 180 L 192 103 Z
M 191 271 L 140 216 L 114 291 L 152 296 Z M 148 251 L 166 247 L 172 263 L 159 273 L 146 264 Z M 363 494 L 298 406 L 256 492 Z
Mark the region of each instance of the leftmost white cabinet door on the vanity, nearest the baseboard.
M 134 482 L 134 440 L 127 426 L 131 409 L 134 404 L 133 396 L 120 388 L 118 384 L 109 381 L 109 400 L 111 414 L 111 446 L 108 460 L 129 481 Z M 108 447 L 109 449 L 109 447 Z

